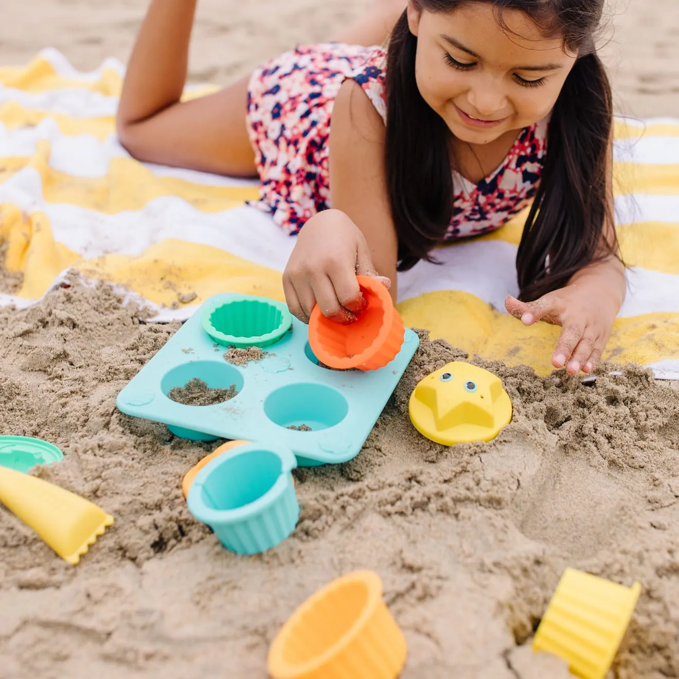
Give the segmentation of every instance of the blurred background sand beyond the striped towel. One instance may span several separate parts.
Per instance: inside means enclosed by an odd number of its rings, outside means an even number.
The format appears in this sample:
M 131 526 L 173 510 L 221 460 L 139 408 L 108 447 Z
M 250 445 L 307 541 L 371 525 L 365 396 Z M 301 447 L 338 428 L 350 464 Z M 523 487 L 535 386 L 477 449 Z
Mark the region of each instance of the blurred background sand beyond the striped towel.
M 370 4 L 371 0 L 200 0 L 191 44 L 191 80 L 227 84 L 295 43 L 334 37 Z M 52 45 L 77 68 L 87 70 L 107 56 L 127 60 L 147 0 L 31 0 L 5 5 L 0 62 L 22 64 Z M 677 115 L 676 1 L 609 0 L 606 16 L 603 54 L 619 111 L 641 117 Z

